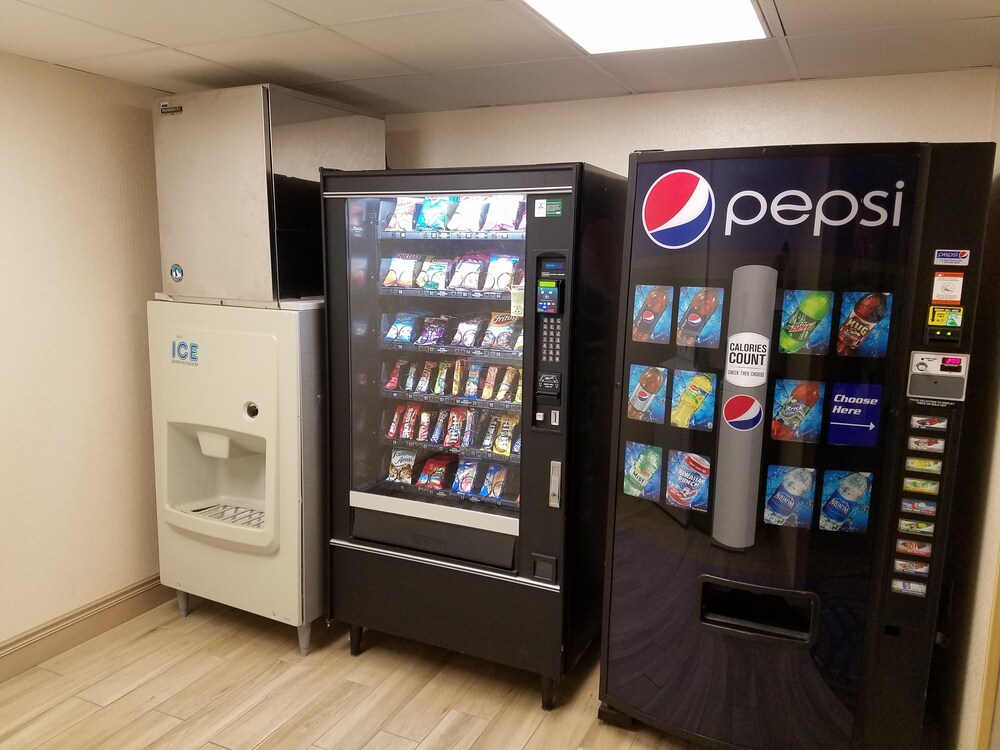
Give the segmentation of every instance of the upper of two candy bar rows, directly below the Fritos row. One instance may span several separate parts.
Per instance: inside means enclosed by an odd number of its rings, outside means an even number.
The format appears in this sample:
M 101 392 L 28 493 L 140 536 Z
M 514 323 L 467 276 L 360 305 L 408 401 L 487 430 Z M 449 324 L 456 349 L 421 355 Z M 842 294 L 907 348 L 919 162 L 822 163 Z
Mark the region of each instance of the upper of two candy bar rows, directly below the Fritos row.
M 383 387 L 388 391 L 519 404 L 521 369 L 466 359 L 428 359 L 418 365 L 408 357 L 400 357 Z

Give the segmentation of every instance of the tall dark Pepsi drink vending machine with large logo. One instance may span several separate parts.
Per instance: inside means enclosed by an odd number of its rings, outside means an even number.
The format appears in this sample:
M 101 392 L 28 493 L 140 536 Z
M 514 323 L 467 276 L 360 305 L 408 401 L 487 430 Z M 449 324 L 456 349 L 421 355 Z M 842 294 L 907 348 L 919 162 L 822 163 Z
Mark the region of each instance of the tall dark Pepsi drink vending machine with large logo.
M 920 746 L 994 148 L 632 156 L 603 719 Z

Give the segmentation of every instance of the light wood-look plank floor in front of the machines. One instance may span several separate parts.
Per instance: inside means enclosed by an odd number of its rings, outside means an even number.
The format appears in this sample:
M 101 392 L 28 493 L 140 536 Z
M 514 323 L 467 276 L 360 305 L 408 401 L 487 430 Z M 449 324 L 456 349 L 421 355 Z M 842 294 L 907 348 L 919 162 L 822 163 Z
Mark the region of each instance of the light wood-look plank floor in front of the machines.
M 0 683 L 0 749 L 687 750 L 597 719 L 597 649 L 540 707 L 535 675 L 366 632 L 168 602 Z

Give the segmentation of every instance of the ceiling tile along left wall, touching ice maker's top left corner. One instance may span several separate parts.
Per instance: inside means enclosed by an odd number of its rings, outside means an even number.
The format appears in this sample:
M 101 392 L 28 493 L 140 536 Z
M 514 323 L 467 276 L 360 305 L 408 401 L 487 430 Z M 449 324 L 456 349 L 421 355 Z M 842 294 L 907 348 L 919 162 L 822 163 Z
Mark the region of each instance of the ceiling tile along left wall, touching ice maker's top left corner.
M 67 67 L 174 94 L 260 83 L 241 71 L 162 48 L 73 60 Z

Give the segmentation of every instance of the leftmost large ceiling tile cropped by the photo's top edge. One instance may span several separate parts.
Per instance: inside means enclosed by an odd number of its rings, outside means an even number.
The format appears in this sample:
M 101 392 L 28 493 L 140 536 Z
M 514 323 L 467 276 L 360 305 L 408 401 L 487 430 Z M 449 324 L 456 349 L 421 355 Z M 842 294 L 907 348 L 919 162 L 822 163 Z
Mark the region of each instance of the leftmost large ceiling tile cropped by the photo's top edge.
M 29 0 L 168 47 L 309 28 L 265 0 Z

